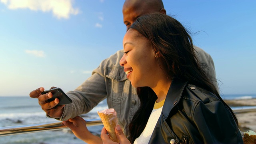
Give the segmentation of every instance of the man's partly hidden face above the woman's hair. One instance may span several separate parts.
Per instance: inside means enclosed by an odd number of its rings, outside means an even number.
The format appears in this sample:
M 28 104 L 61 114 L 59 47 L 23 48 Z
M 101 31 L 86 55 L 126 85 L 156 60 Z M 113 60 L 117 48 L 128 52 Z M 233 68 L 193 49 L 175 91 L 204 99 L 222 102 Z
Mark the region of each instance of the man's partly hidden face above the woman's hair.
M 126 30 L 132 25 L 132 23 L 143 14 L 149 14 L 154 12 L 160 12 L 159 8 L 148 5 L 146 2 L 137 2 L 136 4 L 125 3 L 123 6 L 124 24 Z

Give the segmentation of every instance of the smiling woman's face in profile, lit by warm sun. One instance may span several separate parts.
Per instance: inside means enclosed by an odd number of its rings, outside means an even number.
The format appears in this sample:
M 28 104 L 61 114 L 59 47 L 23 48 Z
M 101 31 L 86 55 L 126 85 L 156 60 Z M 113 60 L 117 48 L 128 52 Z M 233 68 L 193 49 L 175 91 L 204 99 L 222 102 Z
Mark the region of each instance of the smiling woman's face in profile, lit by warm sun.
M 150 41 L 137 30 L 130 29 L 123 40 L 124 56 L 120 65 L 135 88 L 156 82 L 159 64 Z

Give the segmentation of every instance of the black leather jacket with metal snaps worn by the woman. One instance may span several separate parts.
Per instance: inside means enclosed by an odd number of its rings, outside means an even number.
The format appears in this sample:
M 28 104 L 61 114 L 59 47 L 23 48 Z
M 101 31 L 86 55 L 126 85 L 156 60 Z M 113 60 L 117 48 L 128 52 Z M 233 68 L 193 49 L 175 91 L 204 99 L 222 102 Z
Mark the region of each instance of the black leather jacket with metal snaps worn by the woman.
M 172 142 L 171 142 L 172 141 Z M 173 80 L 149 143 L 243 144 L 232 114 L 217 96 Z

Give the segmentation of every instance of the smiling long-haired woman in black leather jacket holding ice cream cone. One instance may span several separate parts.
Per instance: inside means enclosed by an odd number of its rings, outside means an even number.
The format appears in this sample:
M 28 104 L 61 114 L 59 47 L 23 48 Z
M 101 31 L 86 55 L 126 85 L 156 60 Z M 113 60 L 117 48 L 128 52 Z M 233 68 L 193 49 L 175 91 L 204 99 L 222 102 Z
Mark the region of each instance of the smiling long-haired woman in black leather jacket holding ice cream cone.
M 141 16 L 123 46 L 120 65 L 141 101 L 128 128 L 131 143 L 243 143 L 236 116 L 198 65 L 180 22 Z M 101 137 L 110 142 L 104 128 Z

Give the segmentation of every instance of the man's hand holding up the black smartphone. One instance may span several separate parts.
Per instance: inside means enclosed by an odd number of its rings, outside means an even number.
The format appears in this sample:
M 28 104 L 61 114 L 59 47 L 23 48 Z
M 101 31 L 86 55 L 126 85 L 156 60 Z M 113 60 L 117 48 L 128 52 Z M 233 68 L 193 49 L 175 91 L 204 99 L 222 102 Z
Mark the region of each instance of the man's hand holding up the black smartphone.
M 55 87 L 52 87 L 55 88 Z M 46 112 L 46 114 L 52 118 L 60 118 L 62 116 L 62 113 L 64 111 L 65 105 L 57 106 L 57 104 L 60 102 L 58 98 L 55 98 L 55 100 L 48 102 L 47 100 L 52 98 L 52 93 L 47 94 L 41 94 L 41 92 L 44 91 L 44 88 L 38 88 L 36 90 L 33 90 L 30 92 L 29 96 L 31 98 L 38 98 L 38 103 L 40 104 L 42 110 Z

